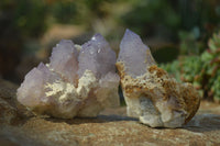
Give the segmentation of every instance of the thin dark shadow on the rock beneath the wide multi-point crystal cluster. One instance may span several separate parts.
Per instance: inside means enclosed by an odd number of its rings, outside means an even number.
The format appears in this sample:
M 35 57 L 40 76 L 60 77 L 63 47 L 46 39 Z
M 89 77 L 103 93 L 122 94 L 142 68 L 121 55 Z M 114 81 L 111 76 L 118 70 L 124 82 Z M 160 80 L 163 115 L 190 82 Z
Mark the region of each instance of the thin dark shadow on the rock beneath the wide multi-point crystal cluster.
M 70 120 L 45 117 L 46 121 L 54 123 L 67 123 L 67 124 L 84 124 L 84 123 L 108 123 L 108 122 L 119 122 L 119 121 L 139 121 L 135 117 L 121 116 L 121 115 L 98 115 L 97 117 L 74 117 Z

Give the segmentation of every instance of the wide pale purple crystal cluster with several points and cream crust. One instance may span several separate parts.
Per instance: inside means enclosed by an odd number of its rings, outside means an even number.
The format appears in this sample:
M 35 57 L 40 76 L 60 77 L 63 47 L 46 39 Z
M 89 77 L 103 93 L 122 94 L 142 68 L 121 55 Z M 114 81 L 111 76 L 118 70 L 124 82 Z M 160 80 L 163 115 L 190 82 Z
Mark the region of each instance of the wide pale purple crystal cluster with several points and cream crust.
M 18 89 L 18 101 L 28 109 L 72 119 L 119 104 L 116 53 L 100 34 L 82 46 L 61 41 L 50 60 L 33 68 Z

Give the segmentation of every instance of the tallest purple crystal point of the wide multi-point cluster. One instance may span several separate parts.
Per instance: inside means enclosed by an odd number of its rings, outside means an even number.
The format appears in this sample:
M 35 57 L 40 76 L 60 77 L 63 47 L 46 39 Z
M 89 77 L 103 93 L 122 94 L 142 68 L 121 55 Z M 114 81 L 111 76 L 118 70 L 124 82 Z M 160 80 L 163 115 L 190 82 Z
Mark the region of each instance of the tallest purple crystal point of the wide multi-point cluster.
M 101 78 L 107 72 L 116 70 L 116 53 L 102 35 L 96 34 L 82 45 L 79 55 L 78 75 L 81 77 L 86 69 L 91 70 L 97 78 Z

